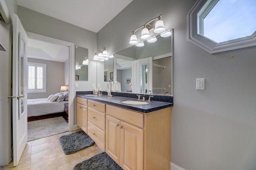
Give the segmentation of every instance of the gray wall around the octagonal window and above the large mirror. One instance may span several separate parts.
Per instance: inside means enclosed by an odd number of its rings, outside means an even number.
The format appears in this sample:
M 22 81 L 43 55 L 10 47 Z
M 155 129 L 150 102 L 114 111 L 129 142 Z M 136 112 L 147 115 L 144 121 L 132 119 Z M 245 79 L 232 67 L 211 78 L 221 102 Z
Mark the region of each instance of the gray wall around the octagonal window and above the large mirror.
M 131 31 L 163 14 L 174 28 L 172 162 L 185 170 L 255 170 L 256 47 L 212 55 L 188 42 L 195 2 L 133 0 L 97 33 L 97 46 L 121 51 Z M 196 78 L 206 78 L 205 90 L 195 89 Z

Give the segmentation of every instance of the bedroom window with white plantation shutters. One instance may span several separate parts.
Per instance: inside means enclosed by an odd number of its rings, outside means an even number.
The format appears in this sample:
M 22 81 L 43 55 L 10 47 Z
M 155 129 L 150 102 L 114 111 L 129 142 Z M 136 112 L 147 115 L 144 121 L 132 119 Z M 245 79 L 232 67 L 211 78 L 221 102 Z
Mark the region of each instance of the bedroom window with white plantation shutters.
M 46 92 L 46 64 L 28 62 L 28 93 Z

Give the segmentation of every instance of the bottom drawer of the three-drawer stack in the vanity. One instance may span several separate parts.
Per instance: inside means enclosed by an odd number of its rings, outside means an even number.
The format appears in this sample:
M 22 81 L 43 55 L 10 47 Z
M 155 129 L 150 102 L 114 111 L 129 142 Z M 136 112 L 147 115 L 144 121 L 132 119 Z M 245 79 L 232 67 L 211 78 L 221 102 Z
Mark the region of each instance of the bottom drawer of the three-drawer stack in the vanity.
M 105 132 L 88 121 L 87 133 L 92 140 L 105 150 Z

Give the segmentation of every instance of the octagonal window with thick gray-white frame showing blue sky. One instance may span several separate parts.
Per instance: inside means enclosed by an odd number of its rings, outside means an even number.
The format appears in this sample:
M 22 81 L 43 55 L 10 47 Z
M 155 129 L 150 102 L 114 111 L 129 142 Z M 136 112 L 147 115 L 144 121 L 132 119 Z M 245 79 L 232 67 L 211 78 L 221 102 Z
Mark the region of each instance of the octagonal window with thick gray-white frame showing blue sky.
M 189 41 L 210 53 L 256 45 L 256 0 L 198 0 Z

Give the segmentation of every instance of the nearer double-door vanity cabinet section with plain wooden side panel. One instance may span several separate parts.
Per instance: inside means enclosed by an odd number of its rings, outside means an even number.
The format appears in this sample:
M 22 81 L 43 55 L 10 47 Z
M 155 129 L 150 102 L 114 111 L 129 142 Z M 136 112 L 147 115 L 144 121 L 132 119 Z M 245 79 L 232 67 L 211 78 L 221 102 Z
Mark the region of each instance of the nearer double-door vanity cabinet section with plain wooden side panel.
M 124 170 L 170 170 L 170 107 L 140 113 L 106 105 L 106 153 Z

